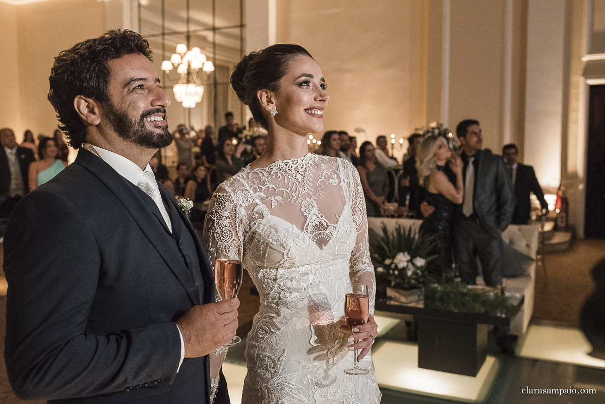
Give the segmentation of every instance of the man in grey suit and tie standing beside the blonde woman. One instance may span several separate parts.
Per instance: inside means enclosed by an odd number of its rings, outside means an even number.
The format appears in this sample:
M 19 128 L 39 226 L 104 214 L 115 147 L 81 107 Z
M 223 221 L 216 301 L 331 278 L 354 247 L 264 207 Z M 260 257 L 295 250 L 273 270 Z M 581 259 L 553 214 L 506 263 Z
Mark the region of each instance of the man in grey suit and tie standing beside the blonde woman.
M 456 128 L 462 145 L 464 196 L 454 239 L 460 278 L 475 284 L 476 258 L 488 286 L 502 284 L 502 232 L 511 223 L 515 198 L 504 161 L 482 150 L 479 121 L 466 119 Z

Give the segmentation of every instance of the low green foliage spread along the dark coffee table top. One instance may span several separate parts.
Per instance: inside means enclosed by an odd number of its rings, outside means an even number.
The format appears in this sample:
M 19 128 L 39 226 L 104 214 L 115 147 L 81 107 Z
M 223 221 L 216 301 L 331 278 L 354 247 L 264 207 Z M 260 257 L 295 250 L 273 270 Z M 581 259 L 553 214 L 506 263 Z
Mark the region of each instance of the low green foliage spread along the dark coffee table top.
M 505 295 L 479 292 L 459 282 L 425 287 L 424 307 L 505 317 L 514 316 L 519 310 Z

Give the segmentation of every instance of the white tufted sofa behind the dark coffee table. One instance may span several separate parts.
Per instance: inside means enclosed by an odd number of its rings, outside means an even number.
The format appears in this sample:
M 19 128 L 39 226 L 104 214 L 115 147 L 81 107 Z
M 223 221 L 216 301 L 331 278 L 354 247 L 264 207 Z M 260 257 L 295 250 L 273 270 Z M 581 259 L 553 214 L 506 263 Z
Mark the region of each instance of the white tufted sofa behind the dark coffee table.
M 399 218 L 368 218 L 368 227 L 371 236 L 382 234 L 382 224 L 387 225 L 387 229 L 394 230 L 397 225 L 412 227 L 418 230 L 422 220 L 417 219 L 399 219 Z M 376 233 L 378 234 L 376 234 Z M 534 313 L 534 287 L 535 287 L 535 258 L 538 250 L 538 227 L 533 225 L 511 224 L 502 233 L 503 241 L 523 254 L 519 256 L 510 256 L 511 252 L 506 252 L 503 259 L 505 266 L 517 266 L 517 272 L 522 275 L 514 278 L 504 278 L 503 285 L 507 293 L 522 293 L 525 296 L 523 307 L 513 319 L 511 324 L 511 334 L 523 335 L 529 325 L 529 320 Z M 518 267 L 520 266 L 520 267 Z M 505 269 L 505 272 L 506 269 Z M 477 277 L 477 284 L 483 284 L 482 276 Z

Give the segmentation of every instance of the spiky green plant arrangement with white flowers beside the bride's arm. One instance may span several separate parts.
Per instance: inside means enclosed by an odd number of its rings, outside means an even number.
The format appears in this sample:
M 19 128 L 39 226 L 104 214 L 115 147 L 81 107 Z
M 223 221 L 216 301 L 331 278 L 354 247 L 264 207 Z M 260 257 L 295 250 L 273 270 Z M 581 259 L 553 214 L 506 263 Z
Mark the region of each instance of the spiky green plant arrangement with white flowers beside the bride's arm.
M 382 236 L 371 247 L 371 259 L 378 282 L 400 289 L 424 287 L 435 280 L 427 272 L 434 237 L 417 233 L 411 227 L 397 226 L 389 232 L 382 225 Z

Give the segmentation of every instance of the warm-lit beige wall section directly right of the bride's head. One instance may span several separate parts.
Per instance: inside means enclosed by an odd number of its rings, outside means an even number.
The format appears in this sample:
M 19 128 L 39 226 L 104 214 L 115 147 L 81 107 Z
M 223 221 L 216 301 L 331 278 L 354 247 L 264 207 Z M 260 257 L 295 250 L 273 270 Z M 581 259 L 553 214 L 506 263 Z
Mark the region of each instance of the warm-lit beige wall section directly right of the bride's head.
M 330 94 L 325 129 L 367 139 L 407 137 L 425 125 L 425 2 L 412 0 L 284 0 L 277 8 L 277 42 L 307 48 Z M 366 140 L 358 137 L 358 144 Z M 407 145 L 407 143 L 406 143 Z M 396 148 L 401 157 L 404 148 Z

